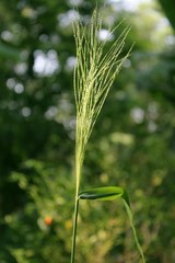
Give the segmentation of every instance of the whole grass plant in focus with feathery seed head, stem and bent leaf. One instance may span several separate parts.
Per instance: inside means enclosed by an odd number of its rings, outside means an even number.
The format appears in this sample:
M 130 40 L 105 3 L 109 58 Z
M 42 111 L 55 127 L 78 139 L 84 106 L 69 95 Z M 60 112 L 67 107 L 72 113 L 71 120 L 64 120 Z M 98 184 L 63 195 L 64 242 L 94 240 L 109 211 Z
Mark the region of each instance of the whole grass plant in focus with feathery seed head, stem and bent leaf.
M 77 64 L 74 67 L 73 87 L 77 107 L 77 129 L 75 129 L 75 199 L 72 235 L 71 263 L 75 258 L 75 238 L 78 226 L 78 213 L 80 199 L 110 201 L 120 197 L 126 206 L 130 225 L 133 231 L 137 248 L 142 262 L 144 255 L 140 247 L 136 229 L 133 226 L 132 211 L 127 192 L 119 186 L 98 187 L 80 193 L 81 178 L 85 149 L 92 134 L 94 124 L 106 100 L 106 96 L 118 75 L 124 61 L 130 55 L 130 50 L 122 58 L 120 57 L 125 46 L 126 37 L 130 31 L 126 27 L 119 37 L 105 52 L 108 37 L 100 39 L 102 28 L 102 18 L 97 9 L 94 10 L 88 24 L 81 20 L 73 23 L 73 33 L 77 46 Z M 108 32 L 110 36 L 117 27 Z

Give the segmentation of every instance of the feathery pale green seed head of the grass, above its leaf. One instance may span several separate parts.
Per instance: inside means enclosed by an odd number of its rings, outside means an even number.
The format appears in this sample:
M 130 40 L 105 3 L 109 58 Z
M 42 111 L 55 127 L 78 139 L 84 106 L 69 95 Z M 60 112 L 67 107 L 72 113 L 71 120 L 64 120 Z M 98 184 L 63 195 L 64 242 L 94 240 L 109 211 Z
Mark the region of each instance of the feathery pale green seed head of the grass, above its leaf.
M 101 42 L 98 33 L 102 28 L 101 15 L 95 10 L 89 24 L 73 23 L 77 46 L 77 64 L 74 67 L 74 98 L 77 106 L 75 134 L 75 172 L 77 190 L 79 190 L 85 146 L 102 110 L 108 91 L 129 53 L 119 58 L 129 28 L 105 53 L 106 41 Z M 112 34 L 116 27 L 109 32 Z

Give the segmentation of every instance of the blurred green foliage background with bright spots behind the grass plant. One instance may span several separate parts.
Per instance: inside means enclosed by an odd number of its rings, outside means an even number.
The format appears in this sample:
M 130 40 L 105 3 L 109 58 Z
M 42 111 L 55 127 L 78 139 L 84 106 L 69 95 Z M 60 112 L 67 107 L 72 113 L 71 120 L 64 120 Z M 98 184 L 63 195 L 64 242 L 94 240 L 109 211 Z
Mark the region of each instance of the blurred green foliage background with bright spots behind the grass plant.
M 91 137 L 81 188 L 127 187 L 148 262 L 175 262 L 175 3 L 98 0 L 135 43 Z M 71 21 L 93 0 L 0 1 L 0 263 L 68 263 L 74 195 Z M 138 263 L 120 202 L 82 202 L 77 263 Z

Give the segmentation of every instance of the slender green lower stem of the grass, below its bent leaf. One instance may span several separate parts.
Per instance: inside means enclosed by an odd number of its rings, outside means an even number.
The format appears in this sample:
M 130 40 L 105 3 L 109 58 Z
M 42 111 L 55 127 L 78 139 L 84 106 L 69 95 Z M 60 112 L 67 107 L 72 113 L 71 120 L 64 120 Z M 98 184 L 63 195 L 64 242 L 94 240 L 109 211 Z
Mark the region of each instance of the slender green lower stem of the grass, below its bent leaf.
M 79 213 L 79 196 L 75 194 L 74 199 L 74 215 L 73 215 L 73 236 L 72 236 L 72 250 L 71 250 L 71 263 L 74 263 L 75 254 L 75 238 L 77 238 L 77 226 L 78 226 L 78 213 Z

